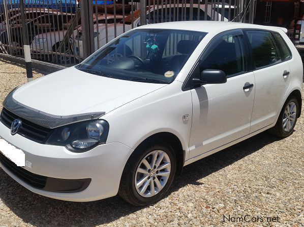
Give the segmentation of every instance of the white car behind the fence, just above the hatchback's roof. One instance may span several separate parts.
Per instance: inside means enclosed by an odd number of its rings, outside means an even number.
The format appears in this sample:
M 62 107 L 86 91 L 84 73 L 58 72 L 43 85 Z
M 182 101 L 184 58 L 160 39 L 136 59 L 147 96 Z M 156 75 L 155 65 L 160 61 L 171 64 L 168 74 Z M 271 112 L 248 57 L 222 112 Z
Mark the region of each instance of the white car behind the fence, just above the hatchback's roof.
M 213 6 L 213 8 L 212 8 Z M 199 10 L 198 10 L 199 8 Z M 148 9 L 148 7 L 147 7 Z M 146 21 L 147 24 L 153 24 L 153 23 L 161 23 L 161 22 L 170 22 L 170 21 L 189 21 L 190 20 L 190 4 L 167 4 L 166 5 L 156 5 L 150 6 L 150 9 L 146 12 Z M 212 9 L 214 9 L 213 12 L 214 15 L 212 15 Z M 217 9 L 220 9 L 219 12 L 217 12 Z M 222 5 L 212 5 L 208 4 L 207 7 L 207 20 L 223 20 L 228 21 L 228 19 L 223 15 L 221 15 L 221 9 Z M 175 11 L 173 13 L 173 11 Z M 227 14 L 228 17 L 228 11 L 229 6 L 225 5 L 225 14 Z M 199 13 L 198 13 L 199 12 Z M 233 15 L 234 13 L 234 7 L 230 7 L 230 14 Z M 204 4 L 193 4 L 193 21 L 196 20 L 205 20 L 205 5 Z M 175 15 L 175 17 L 173 17 Z M 95 50 L 98 50 L 100 47 L 104 46 L 107 42 L 110 42 L 113 40 L 116 36 L 124 33 L 125 31 L 131 30 L 133 27 L 139 27 L 140 25 L 140 10 L 136 10 L 133 15 L 129 14 L 127 17 L 125 17 L 124 21 L 120 21 L 117 24 L 111 24 L 107 28 L 105 26 L 101 27 L 99 29 L 99 36 L 97 36 L 97 29 L 96 26 L 94 28 L 94 44 L 95 44 Z M 116 36 L 115 36 L 115 29 L 116 29 Z M 106 30 L 107 30 L 107 38 L 106 39 Z M 75 32 L 74 35 L 74 54 L 79 60 L 83 60 L 83 45 L 82 40 L 77 41 L 77 32 Z

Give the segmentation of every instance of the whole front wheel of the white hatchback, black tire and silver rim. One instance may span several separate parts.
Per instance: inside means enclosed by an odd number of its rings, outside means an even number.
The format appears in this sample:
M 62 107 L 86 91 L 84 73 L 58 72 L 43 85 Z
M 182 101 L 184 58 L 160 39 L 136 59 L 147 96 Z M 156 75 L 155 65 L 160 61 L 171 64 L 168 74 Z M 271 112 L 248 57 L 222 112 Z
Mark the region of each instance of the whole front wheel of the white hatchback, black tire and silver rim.
M 167 168 L 161 169 L 165 165 Z M 168 192 L 175 171 L 176 157 L 172 146 L 160 141 L 140 145 L 130 156 L 121 175 L 118 195 L 135 206 L 155 203 Z

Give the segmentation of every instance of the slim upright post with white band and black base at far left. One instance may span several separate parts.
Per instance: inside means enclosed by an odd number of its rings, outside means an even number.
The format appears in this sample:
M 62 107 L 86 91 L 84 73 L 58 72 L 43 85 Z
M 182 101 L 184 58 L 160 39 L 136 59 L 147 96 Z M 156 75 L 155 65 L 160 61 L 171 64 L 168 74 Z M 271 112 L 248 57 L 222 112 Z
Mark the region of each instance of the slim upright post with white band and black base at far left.
M 24 3 L 23 0 L 20 1 L 20 13 L 21 13 L 21 26 L 22 26 L 22 40 L 23 40 L 23 52 L 26 68 L 27 82 L 33 80 L 33 69 L 32 69 L 32 59 L 31 50 L 29 49 L 28 33 L 25 24 L 25 14 L 24 14 Z

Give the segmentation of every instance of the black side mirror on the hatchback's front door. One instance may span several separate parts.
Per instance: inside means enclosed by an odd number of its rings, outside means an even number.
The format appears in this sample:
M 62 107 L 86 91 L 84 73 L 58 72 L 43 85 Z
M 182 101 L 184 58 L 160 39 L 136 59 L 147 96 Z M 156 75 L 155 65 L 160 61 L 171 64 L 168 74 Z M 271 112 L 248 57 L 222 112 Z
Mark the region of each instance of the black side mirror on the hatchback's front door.
M 193 78 L 195 86 L 202 84 L 225 84 L 227 82 L 226 73 L 218 69 L 205 69 L 201 72 L 200 78 Z

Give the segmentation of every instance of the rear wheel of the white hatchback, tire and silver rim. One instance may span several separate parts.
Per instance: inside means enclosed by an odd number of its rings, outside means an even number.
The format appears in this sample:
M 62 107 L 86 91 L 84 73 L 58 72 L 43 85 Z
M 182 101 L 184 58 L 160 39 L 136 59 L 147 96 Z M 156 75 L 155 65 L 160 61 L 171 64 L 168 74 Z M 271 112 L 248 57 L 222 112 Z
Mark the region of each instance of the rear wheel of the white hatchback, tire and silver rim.
M 298 100 L 294 96 L 289 97 L 284 103 L 276 125 L 269 129 L 269 132 L 281 138 L 291 135 L 297 121 L 298 111 Z

